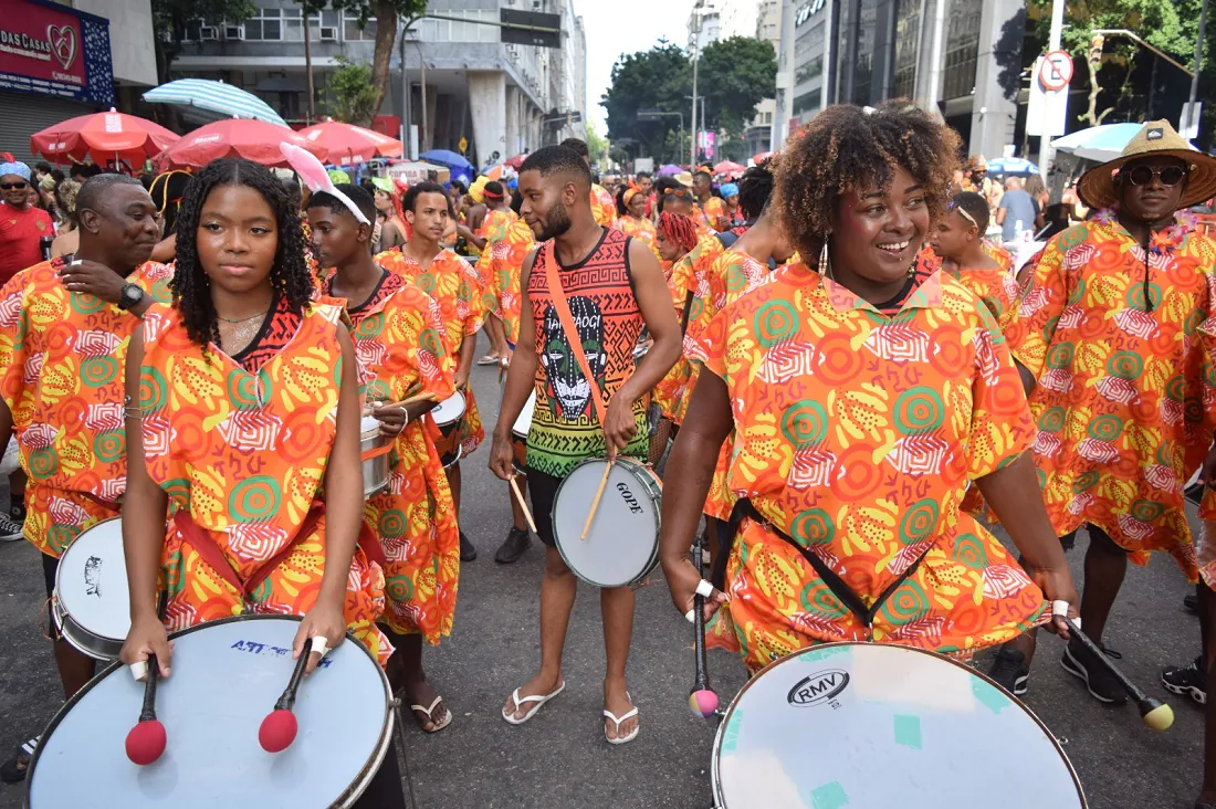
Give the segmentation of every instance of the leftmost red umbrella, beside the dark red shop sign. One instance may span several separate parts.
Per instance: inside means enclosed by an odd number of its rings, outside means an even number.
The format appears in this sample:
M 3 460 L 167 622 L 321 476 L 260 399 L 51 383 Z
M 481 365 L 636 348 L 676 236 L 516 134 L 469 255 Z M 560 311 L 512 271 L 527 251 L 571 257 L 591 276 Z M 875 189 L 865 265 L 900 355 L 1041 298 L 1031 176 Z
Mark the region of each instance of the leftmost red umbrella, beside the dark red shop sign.
M 29 136 L 29 151 L 56 163 L 126 161 L 141 164 L 180 139 L 161 124 L 120 112 L 79 116 Z

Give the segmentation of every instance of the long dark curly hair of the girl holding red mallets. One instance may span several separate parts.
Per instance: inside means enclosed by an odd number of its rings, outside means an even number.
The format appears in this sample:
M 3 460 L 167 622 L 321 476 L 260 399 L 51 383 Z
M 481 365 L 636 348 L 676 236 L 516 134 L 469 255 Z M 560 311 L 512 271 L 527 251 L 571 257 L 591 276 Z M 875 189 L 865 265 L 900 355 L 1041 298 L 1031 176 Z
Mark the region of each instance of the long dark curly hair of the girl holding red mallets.
M 300 314 L 313 297 L 313 279 L 304 260 L 304 231 L 291 193 L 270 169 L 242 158 L 224 158 L 207 164 L 195 175 L 178 212 L 178 269 L 169 281 L 173 304 L 181 313 L 190 339 L 206 347 L 219 343 L 219 321 L 212 302 L 210 279 L 198 260 L 198 225 L 207 197 L 215 189 L 244 186 L 261 195 L 275 212 L 278 245 L 270 283 Z

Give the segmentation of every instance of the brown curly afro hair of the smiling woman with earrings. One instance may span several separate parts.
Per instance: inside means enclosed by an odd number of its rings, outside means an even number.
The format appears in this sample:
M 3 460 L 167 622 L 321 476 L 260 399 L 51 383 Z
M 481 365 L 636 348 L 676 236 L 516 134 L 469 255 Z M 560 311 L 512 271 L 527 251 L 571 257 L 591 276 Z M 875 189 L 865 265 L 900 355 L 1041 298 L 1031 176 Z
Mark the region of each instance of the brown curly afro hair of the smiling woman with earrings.
M 854 189 L 886 187 L 902 167 L 924 186 L 930 220 L 936 221 L 950 201 L 961 144 L 953 129 L 905 99 L 865 109 L 828 107 L 778 161 L 777 219 L 803 255 L 817 255 L 840 197 Z

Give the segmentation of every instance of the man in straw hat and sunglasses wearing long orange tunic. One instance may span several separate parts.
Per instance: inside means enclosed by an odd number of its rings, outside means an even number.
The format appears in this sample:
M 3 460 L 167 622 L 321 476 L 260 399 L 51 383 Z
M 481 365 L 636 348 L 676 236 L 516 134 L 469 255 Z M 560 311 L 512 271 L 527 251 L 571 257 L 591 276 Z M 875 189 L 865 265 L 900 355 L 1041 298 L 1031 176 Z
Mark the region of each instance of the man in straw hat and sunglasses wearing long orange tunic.
M 1128 558 L 1165 551 L 1192 582 L 1216 583 L 1216 563 L 1197 560 L 1182 496 L 1216 426 L 1201 339 L 1216 335 L 1216 242 L 1182 212 L 1216 193 L 1216 159 L 1149 122 L 1079 191 L 1098 213 L 1043 248 L 1007 338 L 1038 426 L 1047 513 L 1065 549 L 1082 527 L 1090 538 L 1081 628 L 1100 644 Z M 1206 605 L 1216 627 L 1216 600 Z M 992 675 L 1014 693 L 1026 691 L 1034 642 L 1025 635 L 997 656 Z M 1079 641 L 1062 664 L 1096 700 L 1126 701 Z

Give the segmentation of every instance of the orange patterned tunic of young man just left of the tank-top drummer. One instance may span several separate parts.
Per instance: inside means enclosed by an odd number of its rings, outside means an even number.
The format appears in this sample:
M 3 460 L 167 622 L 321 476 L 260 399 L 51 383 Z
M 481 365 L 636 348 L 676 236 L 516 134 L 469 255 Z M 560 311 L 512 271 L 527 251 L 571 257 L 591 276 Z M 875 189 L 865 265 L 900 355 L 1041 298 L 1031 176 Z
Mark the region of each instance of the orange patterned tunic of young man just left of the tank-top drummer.
M 439 251 L 426 269 L 411 255 L 395 248 L 378 254 L 376 263 L 435 299 L 444 326 L 444 348 L 458 364 L 465 338 L 477 335 L 485 321 L 480 283 L 473 266 L 450 249 Z M 463 393 L 465 417 L 461 420 L 460 444 L 465 455 L 468 455 L 485 439 L 485 428 L 482 426 L 473 389 L 466 388 Z

